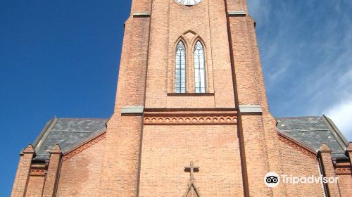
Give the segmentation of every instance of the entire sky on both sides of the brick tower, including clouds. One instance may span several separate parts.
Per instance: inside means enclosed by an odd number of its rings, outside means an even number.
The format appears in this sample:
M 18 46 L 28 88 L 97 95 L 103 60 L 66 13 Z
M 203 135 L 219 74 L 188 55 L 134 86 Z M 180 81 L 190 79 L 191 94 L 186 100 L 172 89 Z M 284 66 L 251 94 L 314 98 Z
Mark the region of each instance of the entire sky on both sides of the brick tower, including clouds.
M 277 117 L 332 117 L 352 140 L 352 1 L 249 0 Z M 0 0 L 0 196 L 51 117 L 109 117 L 130 1 Z

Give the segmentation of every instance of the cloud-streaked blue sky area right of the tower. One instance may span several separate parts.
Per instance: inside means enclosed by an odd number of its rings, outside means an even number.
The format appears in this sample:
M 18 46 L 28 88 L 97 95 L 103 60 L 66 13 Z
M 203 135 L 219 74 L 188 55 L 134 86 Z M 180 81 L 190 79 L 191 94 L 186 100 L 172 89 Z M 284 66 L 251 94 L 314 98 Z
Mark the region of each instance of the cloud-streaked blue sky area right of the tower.
M 352 1 L 248 0 L 271 112 L 325 113 L 352 141 Z M 325 15 L 325 12 L 332 15 Z

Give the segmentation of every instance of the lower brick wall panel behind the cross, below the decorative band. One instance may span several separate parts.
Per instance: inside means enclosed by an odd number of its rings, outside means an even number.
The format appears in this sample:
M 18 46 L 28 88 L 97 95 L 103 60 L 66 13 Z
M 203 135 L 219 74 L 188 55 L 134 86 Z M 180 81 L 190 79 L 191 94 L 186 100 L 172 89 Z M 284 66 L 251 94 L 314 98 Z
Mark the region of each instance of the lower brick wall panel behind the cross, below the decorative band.
M 201 196 L 243 196 L 235 125 L 144 126 L 139 196 L 182 196 L 191 160 Z

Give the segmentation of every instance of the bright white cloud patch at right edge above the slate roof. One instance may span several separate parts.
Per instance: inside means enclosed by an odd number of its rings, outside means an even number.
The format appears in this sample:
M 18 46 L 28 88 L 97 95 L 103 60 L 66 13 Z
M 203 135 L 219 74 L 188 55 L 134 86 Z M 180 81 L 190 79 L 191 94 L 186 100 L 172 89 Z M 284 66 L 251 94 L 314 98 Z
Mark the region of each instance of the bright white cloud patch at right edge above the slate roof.
M 334 121 L 348 141 L 352 141 L 352 98 L 333 106 L 327 116 Z

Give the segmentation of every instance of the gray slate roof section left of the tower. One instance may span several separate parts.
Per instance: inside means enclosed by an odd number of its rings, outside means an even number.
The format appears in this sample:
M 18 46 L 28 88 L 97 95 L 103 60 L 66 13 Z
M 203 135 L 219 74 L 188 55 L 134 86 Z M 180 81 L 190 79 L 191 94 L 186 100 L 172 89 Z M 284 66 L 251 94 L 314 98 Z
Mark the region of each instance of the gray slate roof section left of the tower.
M 107 119 L 54 118 L 46 123 L 34 141 L 37 153 L 34 160 L 49 159 L 49 152 L 56 145 L 63 153 L 106 130 Z

